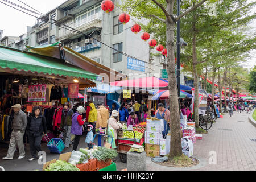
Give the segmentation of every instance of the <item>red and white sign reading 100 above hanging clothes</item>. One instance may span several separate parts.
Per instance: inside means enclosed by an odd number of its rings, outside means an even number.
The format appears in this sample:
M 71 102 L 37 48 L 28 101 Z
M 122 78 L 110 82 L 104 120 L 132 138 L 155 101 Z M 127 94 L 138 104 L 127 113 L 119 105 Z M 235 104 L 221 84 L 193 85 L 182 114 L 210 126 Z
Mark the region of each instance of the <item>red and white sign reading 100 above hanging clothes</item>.
M 46 84 L 28 86 L 28 102 L 46 102 Z

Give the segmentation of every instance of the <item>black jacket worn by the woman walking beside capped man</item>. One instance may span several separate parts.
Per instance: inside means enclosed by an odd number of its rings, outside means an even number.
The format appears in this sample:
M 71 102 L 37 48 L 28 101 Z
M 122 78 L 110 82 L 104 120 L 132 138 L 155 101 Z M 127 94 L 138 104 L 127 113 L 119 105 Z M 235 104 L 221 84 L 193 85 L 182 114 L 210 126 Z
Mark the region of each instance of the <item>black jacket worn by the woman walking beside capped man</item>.
M 44 115 L 39 115 L 37 118 L 32 116 L 28 117 L 28 135 L 38 137 L 40 135 L 43 135 L 43 132 L 47 133 L 46 118 L 44 117 Z

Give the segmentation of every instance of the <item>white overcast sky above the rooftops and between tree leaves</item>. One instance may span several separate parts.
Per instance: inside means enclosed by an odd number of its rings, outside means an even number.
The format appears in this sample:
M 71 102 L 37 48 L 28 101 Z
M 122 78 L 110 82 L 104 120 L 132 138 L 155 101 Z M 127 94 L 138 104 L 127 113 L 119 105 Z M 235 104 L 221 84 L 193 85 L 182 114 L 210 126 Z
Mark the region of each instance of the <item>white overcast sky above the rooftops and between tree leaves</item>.
M 6 3 L 5 1 L 0 1 Z M 14 2 L 18 5 L 25 6 L 18 0 L 9 1 Z M 55 9 L 57 6 L 61 5 L 61 3 L 65 2 L 66 0 L 21 1 L 42 13 L 47 13 L 48 11 Z M 253 2 L 254 0 L 249 1 Z M 256 12 L 256 7 L 251 10 L 251 13 L 253 12 Z M 36 18 L 0 3 L 0 30 L 3 30 L 3 36 L 20 36 L 27 32 L 27 26 L 33 26 L 34 24 L 36 24 Z M 254 20 L 250 24 L 250 26 L 252 26 L 254 33 L 256 33 L 256 20 Z M 250 55 L 252 57 L 251 59 L 247 60 L 245 64 L 243 64 L 244 68 L 253 68 L 254 65 L 256 65 L 256 51 L 251 51 Z

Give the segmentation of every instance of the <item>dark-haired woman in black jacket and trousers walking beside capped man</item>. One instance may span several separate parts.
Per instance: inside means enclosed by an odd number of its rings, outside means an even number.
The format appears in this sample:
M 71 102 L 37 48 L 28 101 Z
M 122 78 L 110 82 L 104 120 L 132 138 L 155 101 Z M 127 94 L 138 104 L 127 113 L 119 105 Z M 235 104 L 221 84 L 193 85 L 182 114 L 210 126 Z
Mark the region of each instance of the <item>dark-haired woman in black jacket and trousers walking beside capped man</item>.
M 28 142 L 30 143 L 30 152 L 32 155 L 32 158 L 29 159 L 29 161 L 38 158 L 37 153 L 41 151 L 43 133 L 44 135 L 47 133 L 46 118 L 42 115 L 41 107 L 35 106 L 27 121 Z M 42 158 L 42 156 L 39 156 L 39 159 L 40 158 Z

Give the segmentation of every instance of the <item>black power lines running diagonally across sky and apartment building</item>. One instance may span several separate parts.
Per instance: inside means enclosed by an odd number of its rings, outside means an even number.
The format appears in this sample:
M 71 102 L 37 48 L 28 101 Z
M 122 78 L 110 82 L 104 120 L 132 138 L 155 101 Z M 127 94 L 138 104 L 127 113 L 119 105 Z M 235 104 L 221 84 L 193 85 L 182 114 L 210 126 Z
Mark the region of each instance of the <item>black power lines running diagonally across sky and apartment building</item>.
M 20 8 L 22 8 L 22 9 L 24 9 L 24 10 L 30 11 L 31 13 L 34 13 L 34 14 L 36 14 L 36 15 L 39 15 L 39 14 L 36 13 L 35 11 L 28 10 L 28 9 L 26 9 L 25 7 L 20 6 L 20 5 L 16 5 L 16 4 L 13 3 L 13 2 L 10 2 L 10 1 L 7 1 L 7 0 L 3 0 L 3 1 L 9 2 L 9 3 L 11 3 L 11 4 L 14 5 L 14 6 L 20 7 Z M 1 2 L 1 1 L 0 1 L 0 2 Z M 21 2 L 21 1 L 20 1 L 20 2 Z M 3 3 L 3 2 L 1 2 L 1 3 Z M 7 5 L 6 3 L 3 3 L 3 4 L 4 4 L 4 5 Z M 26 3 L 24 3 L 24 4 L 26 5 Z M 10 6 L 10 5 L 7 5 L 7 6 Z M 28 6 L 28 5 L 27 5 L 27 6 Z M 16 8 L 13 7 L 13 6 L 10 6 L 10 7 L 16 9 Z M 30 6 L 29 6 L 29 7 L 30 7 Z M 16 9 L 16 10 L 19 10 L 19 9 Z M 35 10 L 35 9 L 34 9 L 34 10 Z M 19 10 L 19 11 L 22 11 L 22 10 Z M 37 11 L 37 10 L 36 10 L 36 11 Z M 24 11 L 22 11 L 22 12 L 23 12 L 23 13 L 26 13 L 26 12 L 24 12 Z M 39 12 L 39 11 L 38 11 L 38 12 Z M 39 13 L 40 13 L 40 12 L 39 12 Z M 26 13 L 26 14 L 28 14 L 28 15 L 30 15 L 30 16 L 34 16 L 34 15 L 29 14 L 29 13 Z M 40 13 L 40 14 L 42 14 L 42 13 Z M 43 15 L 43 14 L 42 14 L 42 15 Z M 35 17 L 36 19 L 40 19 L 40 20 L 51 19 L 51 20 L 54 20 L 55 22 L 57 22 L 57 20 L 52 19 L 52 18 L 48 18 L 48 17 L 45 16 L 45 15 L 43 15 L 43 18 L 38 18 L 38 17 L 36 17 L 36 16 L 34 16 L 34 17 Z M 53 23 L 53 22 L 48 22 L 48 23 L 55 24 L 55 23 Z M 60 23 L 60 22 L 57 22 L 57 23 L 63 24 L 63 23 Z M 55 24 L 55 25 L 61 27 L 59 24 Z M 86 35 L 86 36 L 88 36 L 89 38 L 92 38 L 92 39 L 96 40 L 97 42 L 100 42 L 100 43 L 104 44 L 105 46 L 107 46 L 107 47 L 109 47 L 109 48 L 111 48 L 111 49 L 117 51 L 118 53 L 121 53 L 122 55 L 125 55 L 125 56 L 127 56 L 127 57 L 131 57 L 131 58 L 133 58 L 133 59 L 142 61 L 143 63 L 151 64 L 151 63 L 148 63 L 148 62 L 146 62 L 146 61 L 137 59 L 136 57 L 130 56 L 130 55 L 128 55 L 127 53 L 124 53 L 124 52 L 122 52 L 122 51 L 118 51 L 117 49 L 114 49 L 113 47 L 110 47 L 110 46 L 108 46 L 107 44 L 105 44 L 105 43 L 103 43 L 103 42 L 97 40 L 96 38 L 93 38 L 93 37 L 90 36 L 90 35 L 84 34 L 83 32 L 80 32 L 80 31 L 76 30 L 75 28 L 69 27 L 69 26 L 67 26 L 67 25 L 65 25 L 65 24 L 63 24 L 63 25 L 64 25 L 65 27 L 61 27 L 61 28 L 64 28 L 65 30 L 69 30 L 69 31 L 76 32 L 76 33 L 78 33 L 78 34 Z M 68 28 L 71 28 L 72 30 L 68 29 L 67 27 L 68 27 Z M 153 65 L 153 64 L 152 64 L 152 65 Z M 146 67 L 146 68 L 148 68 L 148 67 Z M 151 69 L 151 68 L 148 68 L 148 69 Z M 154 71 L 154 69 L 152 69 L 152 70 Z

